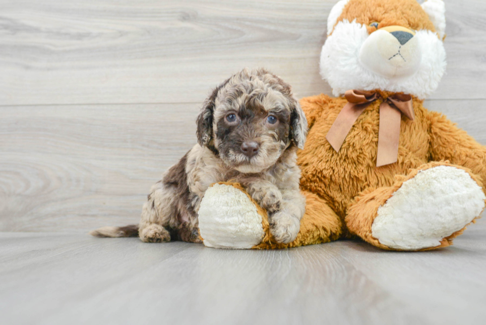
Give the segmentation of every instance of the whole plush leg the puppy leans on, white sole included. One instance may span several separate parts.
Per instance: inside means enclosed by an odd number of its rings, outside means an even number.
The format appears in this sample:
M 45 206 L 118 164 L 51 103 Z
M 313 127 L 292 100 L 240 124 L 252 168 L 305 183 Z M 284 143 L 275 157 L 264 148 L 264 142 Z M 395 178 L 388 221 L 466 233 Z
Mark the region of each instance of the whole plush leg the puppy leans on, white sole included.
M 319 196 L 308 192 L 302 194 L 306 206 L 299 234 L 294 241 L 284 244 L 278 243 L 272 235 L 265 209 L 240 184 L 229 182 L 213 185 L 206 191 L 199 208 L 199 230 L 204 245 L 214 248 L 279 249 L 338 239 L 342 233 L 341 219 Z

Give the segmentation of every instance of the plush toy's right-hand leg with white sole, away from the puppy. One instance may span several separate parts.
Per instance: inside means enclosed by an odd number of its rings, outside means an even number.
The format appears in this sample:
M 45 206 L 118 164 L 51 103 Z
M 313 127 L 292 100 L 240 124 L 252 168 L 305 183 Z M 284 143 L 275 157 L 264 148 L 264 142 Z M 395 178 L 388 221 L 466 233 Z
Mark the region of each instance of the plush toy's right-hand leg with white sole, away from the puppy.
M 358 195 L 345 218 L 349 230 L 387 250 L 446 247 L 479 217 L 485 195 L 467 168 L 431 162 L 397 177 L 391 187 Z

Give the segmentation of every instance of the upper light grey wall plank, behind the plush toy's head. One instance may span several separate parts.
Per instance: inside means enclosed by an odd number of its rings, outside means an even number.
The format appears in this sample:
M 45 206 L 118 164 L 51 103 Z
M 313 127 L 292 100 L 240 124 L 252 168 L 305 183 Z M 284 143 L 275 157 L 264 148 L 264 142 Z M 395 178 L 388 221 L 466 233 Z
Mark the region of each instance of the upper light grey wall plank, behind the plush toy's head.
M 0 1 L 0 104 L 201 102 L 244 66 L 299 96 L 336 0 Z M 431 98 L 485 98 L 486 2 L 447 1 L 448 70 Z

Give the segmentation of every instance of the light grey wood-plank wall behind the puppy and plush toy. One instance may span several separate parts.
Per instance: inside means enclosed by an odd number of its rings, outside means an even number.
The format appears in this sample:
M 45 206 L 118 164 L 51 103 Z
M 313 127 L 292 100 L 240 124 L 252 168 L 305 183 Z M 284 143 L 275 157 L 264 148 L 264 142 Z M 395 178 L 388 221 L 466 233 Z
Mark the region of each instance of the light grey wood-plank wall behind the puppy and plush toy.
M 0 231 L 137 222 L 210 88 L 245 66 L 331 94 L 318 58 L 335 2 L 0 0 Z M 486 1 L 446 8 L 426 106 L 486 144 Z

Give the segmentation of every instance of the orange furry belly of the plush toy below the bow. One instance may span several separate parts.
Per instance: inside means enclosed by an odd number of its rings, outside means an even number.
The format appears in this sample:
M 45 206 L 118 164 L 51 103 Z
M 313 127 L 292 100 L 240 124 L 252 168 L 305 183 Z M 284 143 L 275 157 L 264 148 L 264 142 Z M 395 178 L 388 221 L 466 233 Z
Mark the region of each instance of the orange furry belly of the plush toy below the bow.
M 398 162 L 376 167 L 381 103 L 376 101 L 358 118 L 336 152 L 325 138 L 345 104 L 339 98 L 335 100 L 339 105 L 325 108 L 309 130 L 298 163 L 302 169 L 302 188 L 325 198 L 344 218 L 348 204 L 360 192 L 390 186 L 395 175 L 406 175 L 411 168 L 428 162 L 429 136 L 422 103 L 414 102 L 415 120 L 402 116 Z

